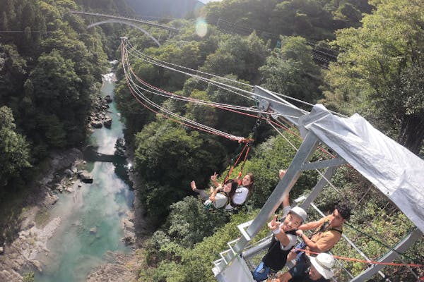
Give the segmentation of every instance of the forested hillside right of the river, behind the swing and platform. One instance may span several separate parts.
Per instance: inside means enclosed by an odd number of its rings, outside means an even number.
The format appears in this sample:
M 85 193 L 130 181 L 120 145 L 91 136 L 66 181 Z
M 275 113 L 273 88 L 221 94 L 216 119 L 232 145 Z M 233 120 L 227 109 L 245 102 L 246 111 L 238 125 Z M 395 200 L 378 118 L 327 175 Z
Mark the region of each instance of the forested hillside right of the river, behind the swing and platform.
M 423 28 L 418 24 L 423 5 L 419 1 L 233 0 L 211 2 L 201 14 L 211 23 L 204 36 L 196 35 L 192 21 L 177 20 L 171 24 L 181 32 L 161 47 L 136 36 L 129 37 L 131 44 L 146 56 L 175 65 L 261 85 L 312 104 L 320 102 L 342 114 L 359 112 L 384 133 L 420 153 L 424 137 L 421 125 L 411 124 L 418 121 L 416 118 L 422 121 L 424 114 L 424 85 L 418 78 L 423 60 L 418 50 L 424 47 Z M 223 20 L 226 25 L 220 25 Z M 247 31 L 253 32 L 246 35 Z M 165 35 L 159 30 L 151 32 L 155 37 Z M 314 57 L 317 50 L 327 61 Z M 155 87 L 184 97 L 254 106 L 213 83 L 154 66 L 141 56 L 131 57 L 131 71 Z M 240 235 L 235 226 L 257 214 L 278 182 L 278 169 L 286 168 L 293 159 L 295 149 L 290 143 L 298 147 L 300 140 L 290 130 L 281 136 L 264 123 L 254 127 L 255 118 L 145 92 L 166 109 L 213 128 L 245 137 L 252 128 L 257 130 L 244 169 L 254 173 L 254 194 L 237 215 L 206 212 L 192 196 L 189 182 L 196 180 L 198 187 L 206 188 L 214 171 L 223 180 L 225 167 L 231 164 L 239 145 L 141 108 L 131 98 L 123 73 L 120 75 L 117 99 L 127 121 L 126 139 L 134 146 L 137 189 L 146 213 L 160 226 L 146 243 L 139 281 L 214 281 L 213 260 L 228 248 L 229 240 Z M 408 125 L 417 133 L 412 140 L 408 139 L 412 133 Z M 314 158 L 323 157 L 317 154 Z M 235 175 L 237 172 L 236 168 Z M 290 196 L 306 195 L 316 180 L 314 173 L 303 174 Z M 338 192 L 326 187 L 315 204 L 324 211 L 339 201 L 355 206 L 353 228 L 343 233 L 355 238 L 369 257 L 383 255 L 387 245 L 367 235 L 378 229 L 384 242 L 392 245 L 413 226 L 353 169 L 339 169 L 333 183 Z M 363 233 L 358 233 L 358 228 Z M 422 240 L 408 249 L 406 260 L 418 262 L 419 250 L 423 250 Z M 333 252 L 356 256 L 344 243 Z M 344 266 L 353 275 L 365 269 L 359 263 Z M 404 267 L 387 268 L 384 273 L 394 281 L 413 281 Z M 338 279 L 347 281 L 348 277 L 339 273 Z

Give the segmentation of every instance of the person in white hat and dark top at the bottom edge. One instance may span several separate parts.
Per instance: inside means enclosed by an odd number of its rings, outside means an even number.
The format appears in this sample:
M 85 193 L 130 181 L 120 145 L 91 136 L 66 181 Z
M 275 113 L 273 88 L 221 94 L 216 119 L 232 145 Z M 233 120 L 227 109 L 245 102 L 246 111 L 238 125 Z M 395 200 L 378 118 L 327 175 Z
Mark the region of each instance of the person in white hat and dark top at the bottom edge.
M 317 257 L 310 257 L 310 264 L 295 265 L 272 282 L 328 282 L 334 276 L 333 256 L 322 252 Z

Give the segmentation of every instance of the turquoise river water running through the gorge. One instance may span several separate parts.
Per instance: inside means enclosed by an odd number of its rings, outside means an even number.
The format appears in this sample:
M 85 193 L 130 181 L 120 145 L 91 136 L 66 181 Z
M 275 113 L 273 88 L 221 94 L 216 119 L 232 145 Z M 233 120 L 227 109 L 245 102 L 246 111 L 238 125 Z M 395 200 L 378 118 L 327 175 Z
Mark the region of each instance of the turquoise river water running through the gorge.
M 113 97 L 114 75 L 104 75 L 102 96 Z M 123 124 L 114 102 L 110 104 L 112 128 L 95 129 L 89 143 L 97 152 L 114 154 L 114 145 L 123 135 Z M 41 254 L 42 273 L 35 274 L 36 282 L 81 282 L 93 268 L 105 263 L 107 251 L 129 252 L 121 238 L 121 221 L 134 200 L 126 181 L 115 173 L 122 168 L 122 158 L 112 162 L 87 162 L 86 170 L 93 183 L 82 183 L 75 192 L 59 195 L 59 202 L 49 211 L 51 218 L 61 216 L 61 225 L 47 243 L 50 252 Z M 119 173 L 120 174 L 120 173 Z

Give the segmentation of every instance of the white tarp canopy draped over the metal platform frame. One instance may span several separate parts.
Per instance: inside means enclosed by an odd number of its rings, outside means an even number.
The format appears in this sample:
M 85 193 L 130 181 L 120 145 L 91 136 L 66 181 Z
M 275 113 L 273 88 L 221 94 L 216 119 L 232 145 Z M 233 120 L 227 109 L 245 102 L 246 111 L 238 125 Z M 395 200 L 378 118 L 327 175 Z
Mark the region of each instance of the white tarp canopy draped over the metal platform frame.
M 370 180 L 424 233 L 424 161 L 391 140 L 359 114 L 339 118 L 315 105 L 299 120 Z M 302 128 L 303 127 L 303 128 Z

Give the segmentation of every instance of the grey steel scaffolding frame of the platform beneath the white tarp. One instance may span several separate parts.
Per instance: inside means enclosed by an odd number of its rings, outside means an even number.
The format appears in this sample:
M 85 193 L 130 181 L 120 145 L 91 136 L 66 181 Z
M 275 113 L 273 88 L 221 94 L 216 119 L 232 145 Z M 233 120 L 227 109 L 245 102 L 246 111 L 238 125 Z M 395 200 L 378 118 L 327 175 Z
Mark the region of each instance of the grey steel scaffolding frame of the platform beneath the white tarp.
M 298 109 L 289 102 L 281 99 L 276 94 L 269 92 L 261 87 L 255 87 L 255 97 L 259 102 L 259 109 L 262 111 L 269 111 L 270 115 L 272 113 L 283 114 L 282 118 L 286 122 L 295 125 L 300 128 L 303 132 L 303 142 L 298 152 L 295 154 L 293 161 L 288 167 L 285 176 L 279 181 L 276 188 L 273 190 L 272 194 L 261 208 L 259 214 L 252 221 L 244 223 L 239 226 L 241 236 L 239 239 L 234 240 L 229 245 L 229 250 L 220 253 L 220 259 L 214 262 L 215 267 L 213 272 L 216 275 L 216 279 L 220 282 L 234 282 L 234 281 L 254 281 L 250 273 L 248 258 L 252 255 L 257 255 L 259 252 L 266 250 L 269 245 L 269 238 L 261 240 L 258 245 L 254 247 L 249 246 L 250 241 L 254 238 L 257 233 L 261 230 L 264 224 L 269 220 L 270 216 L 276 212 L 276 209 L 280 206 L 283 201 L 283 197 L 288 195 L 290 190 L 295 185 L 296 181 L 300 177 L 302 171 L 317 170 L 319 168 L 326 168 L 325 173 L 319 173 L 322 177 L 319 179 L 317 184 L 314 186 L 310 195 L 306 197 L 305 201 L 302 202 L 301 207 L 307 209 L 314 199 L 319 195 L 319 193 L 324 188 L 324 185 L 329 183 L 329 179 L 334 175 L 336 169 L 339 166 L 348 164 L 348 161 L 343 159 L 340 156 L 335 157 L 331 160 L 325 161 L 314 161 L 311 162 L 310 159 L 312 154 L 314 154 L 319 143 L 325 143 L 323 140 L 320 140 L 317 135 L 315 135 L 311 130 L 301 126 L 300 119 L 303 116 L 309 114 L 306 111 Z M 328 144 L 326 144 L 328 145 Z M 330 147 L 331 148 L 331 147 Z M 419 226 L 419 225 L 417 225 Z M 416 228 L 409 235 L 406 236 L 401 242 L 399 242 L 394 248 L 392 248 L 387 255 L 384 255 L 379 262 L 391 262 L 393 259 L 399 256 L 401 252 L 404 252 L 409 246 L 416 243 L 420 239 L 420 236 L 423 233 L 419 228 Z M 368 257 L 361 252 L 358 247 L 356 247 L 351 240 L 345 238 L 348 243 L 351 243 L 355 247 L 361 256 L 368 260 Z M 353 281 L 366 281 L 367 278 L 379 273 L 383 278 L 384 274 L 381 273 L 383 265 L 373 265 L 368 269 L 363 271 L 359 276 L 353 277 L 352 274 L 349 274 L 351 277 L 351 282 Z

